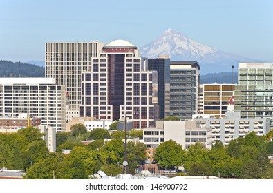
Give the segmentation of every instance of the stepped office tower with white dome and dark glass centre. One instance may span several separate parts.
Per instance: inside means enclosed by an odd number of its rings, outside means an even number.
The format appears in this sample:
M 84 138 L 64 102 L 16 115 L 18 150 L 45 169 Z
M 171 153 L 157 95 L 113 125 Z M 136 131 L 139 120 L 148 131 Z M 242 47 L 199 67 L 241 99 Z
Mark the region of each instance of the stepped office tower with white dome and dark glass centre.
M 80 116 L 118 121 L 126 115 L 133 128 L 147 128 L 158 119 L 157 72 L 128 41 L 107 43 L 91 70 L 82 72 Z

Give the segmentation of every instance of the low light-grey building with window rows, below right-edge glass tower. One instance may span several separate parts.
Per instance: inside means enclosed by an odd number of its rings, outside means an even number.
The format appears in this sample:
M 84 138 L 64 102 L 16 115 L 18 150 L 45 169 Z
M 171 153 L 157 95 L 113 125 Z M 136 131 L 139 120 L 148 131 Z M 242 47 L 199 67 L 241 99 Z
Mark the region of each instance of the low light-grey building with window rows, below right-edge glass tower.
M 269 132 L 268 118 L 241 118 L 241 112 L 226 112 L 225 117 L 217 119 L 209 114 L 196 114 L 194 121 L 199 121 L 200 127 L 212 129 L 212 143 L 216 141 L 228 145 L 238 137 L 244 137 L 250 132 L 265 135 Z

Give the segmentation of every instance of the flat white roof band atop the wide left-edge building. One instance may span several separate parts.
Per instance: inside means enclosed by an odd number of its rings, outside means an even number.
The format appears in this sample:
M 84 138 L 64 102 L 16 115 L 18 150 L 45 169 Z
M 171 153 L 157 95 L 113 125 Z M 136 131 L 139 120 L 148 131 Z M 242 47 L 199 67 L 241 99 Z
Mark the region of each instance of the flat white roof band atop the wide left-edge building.
M 55 84 L 53 78 L 0 78 L 1 85 L 39 85 L 39 84 Z

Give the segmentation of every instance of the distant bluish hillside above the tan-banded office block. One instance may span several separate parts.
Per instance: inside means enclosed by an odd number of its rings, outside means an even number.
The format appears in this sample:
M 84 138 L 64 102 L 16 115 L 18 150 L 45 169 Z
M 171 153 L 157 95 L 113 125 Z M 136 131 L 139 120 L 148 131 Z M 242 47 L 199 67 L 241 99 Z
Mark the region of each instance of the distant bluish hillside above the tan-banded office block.
M 233 83 L 238 83 L 238 72 L 234 72 Z M 200 83 L 232 83 L 232 72 L 200 75 Z

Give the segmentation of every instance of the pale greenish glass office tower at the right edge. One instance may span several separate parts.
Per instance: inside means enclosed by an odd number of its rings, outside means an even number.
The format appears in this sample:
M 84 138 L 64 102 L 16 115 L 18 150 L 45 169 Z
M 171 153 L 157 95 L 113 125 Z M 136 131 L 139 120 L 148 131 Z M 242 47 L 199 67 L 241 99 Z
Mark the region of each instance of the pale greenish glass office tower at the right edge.
M 273 63 L 239 63 L 235 110 L 242 118 L 270 118 L 273 130 Z

